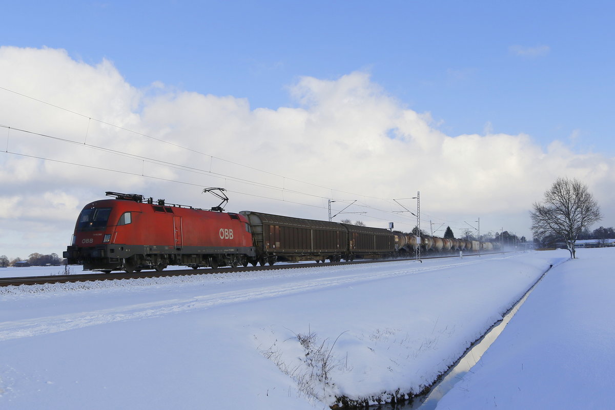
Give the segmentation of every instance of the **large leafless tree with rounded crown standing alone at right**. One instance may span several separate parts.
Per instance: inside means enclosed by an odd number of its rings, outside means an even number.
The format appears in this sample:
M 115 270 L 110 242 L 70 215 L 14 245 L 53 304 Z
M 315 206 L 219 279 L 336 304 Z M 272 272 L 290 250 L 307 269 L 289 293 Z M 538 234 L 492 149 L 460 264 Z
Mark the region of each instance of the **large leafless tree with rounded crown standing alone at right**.
M 583 229 L 602 218 L 587 185 L 568 178 L 557 178 L 544 193 L 544 204 L 534 202 L 530 216 L 534 236 L 557 235 L 566 241 L 571 258 L 576 258 L 574 245 Z

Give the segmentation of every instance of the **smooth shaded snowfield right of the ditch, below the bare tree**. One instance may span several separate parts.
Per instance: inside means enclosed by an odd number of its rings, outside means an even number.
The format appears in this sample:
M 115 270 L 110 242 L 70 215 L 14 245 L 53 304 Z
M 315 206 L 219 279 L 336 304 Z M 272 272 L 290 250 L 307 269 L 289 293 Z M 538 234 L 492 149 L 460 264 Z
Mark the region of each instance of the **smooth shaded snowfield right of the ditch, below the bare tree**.
M 547 273 L 438 409 L 611 409 L 615 249 L 579 249 Z

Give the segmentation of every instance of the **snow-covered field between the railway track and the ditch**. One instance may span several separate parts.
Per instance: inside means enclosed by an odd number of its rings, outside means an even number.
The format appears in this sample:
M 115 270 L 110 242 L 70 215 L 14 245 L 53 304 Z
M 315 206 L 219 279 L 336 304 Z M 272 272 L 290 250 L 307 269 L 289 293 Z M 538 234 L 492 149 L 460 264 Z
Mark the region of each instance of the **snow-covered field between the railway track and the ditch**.
M 431 384 L 566 259 L 530 252 L 0 288 L 0 406 L 390 400 Z

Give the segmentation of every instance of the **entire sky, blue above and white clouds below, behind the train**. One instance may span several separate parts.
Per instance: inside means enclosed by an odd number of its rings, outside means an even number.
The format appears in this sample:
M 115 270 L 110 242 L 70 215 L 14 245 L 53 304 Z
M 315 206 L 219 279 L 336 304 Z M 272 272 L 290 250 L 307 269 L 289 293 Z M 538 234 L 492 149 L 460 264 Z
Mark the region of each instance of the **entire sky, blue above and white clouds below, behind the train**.
M 349 217 L 405 231 L 415 221 L 392 199 L 421 191 L 423 227 L 459 235 L 481 218 L 482 232 L 530 237 L 532 203 L 568 176 L 615 225 L 611 2 L 23 1 L 2 12 L 0 254 L 61 253 L 105 191 L 207 207 L 199 187 L 224 186 L 228 210 L 314 219 L 328 199 L 359 199 L 349 211 L 367 213 Z M 7 127 L 85 135 L 130 159 Z M 115 178 L 135 162 L 145 173 L 135 157 L 173 182 Z M 168 159 L 210 165 L 181 175 Z

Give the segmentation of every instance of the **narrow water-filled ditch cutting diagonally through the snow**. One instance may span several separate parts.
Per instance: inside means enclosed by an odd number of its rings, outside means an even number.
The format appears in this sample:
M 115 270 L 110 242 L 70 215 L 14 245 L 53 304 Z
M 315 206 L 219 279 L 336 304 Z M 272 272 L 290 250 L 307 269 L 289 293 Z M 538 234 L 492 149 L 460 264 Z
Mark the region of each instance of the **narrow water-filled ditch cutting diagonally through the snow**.
M 502 330 L 506 328 L 506 325 L 512 319 L 512 317 L 517 313 L 517 310 L 523 305 L 523 302 L 526 301 L 530 293 L 536 288 L 536 285 L 544 278 L 544 275 L 549 272 L 549 270 L 553 266 L 549 266 L 541 277 L 528 289 L 528 291 L 523 295 L 521 299 L 515 303 L 510 310 L 504 315 L 502 320 L 497 321 L 496 323 L 489 328 L 485 334 L 483 334 L 480 339 L 475 341 L 466 353 L 459 358 L 458 361 L 451 366 L 445 374 L 442 375 L 442 379 L 438 381 L 434 386 L 429 390 L 426 395 L 416 396 L 414 400 L 406 401 L 402 403 L 385 403 L 385 404 L 376 404 L 374 406 L 369 406 L 369 410 L 433 410 L 438 405 L 438 401 L 449 391 L 457 382 L 459 382 L 463 376 L 472 369 L 472 366 L 478 363 L 478 360 L 485 354 L 486 350 L 489 349 L 491 344 L 498 338 Z

